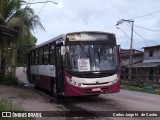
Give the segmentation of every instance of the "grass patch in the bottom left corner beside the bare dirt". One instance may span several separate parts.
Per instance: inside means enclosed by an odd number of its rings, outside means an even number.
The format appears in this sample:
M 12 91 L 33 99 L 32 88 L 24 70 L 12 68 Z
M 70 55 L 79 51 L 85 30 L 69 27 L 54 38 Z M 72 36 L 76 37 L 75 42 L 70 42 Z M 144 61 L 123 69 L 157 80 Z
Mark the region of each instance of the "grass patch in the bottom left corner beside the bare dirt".
M 0 100 L 0 111 L 4 112 L 15 112 L 15 111 L 20 111 L 18 107 L 13 106 L 11 100 Z M 32 120 L 32 118 L 27 118 L 27 117 L 1 117 L 0 120 Z

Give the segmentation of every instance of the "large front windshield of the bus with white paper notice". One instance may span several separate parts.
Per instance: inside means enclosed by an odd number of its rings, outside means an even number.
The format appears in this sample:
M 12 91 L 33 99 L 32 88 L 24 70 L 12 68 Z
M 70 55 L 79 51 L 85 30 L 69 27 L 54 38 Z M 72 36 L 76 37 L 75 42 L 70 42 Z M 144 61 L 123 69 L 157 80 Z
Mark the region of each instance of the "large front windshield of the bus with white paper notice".
M 68 45 L 65 66 L 73 72 L 115 70 L 116 45 Z

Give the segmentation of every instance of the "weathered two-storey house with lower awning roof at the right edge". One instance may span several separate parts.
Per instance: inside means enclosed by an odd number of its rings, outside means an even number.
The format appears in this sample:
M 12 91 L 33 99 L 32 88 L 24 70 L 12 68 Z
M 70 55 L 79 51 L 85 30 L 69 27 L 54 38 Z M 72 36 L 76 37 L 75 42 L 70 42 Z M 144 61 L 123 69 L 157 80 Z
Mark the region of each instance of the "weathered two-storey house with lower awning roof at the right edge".
M 137 80 L 160 83 L 160 45 L 144 47 L 143 62 L 129 67 Z

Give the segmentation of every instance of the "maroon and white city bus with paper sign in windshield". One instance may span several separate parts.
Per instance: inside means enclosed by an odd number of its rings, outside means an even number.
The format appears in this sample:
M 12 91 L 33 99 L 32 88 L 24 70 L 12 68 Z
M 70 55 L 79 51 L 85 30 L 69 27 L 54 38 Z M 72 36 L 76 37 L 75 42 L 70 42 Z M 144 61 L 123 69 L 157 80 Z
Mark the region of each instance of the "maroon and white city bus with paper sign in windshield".
M 27 54 L 27 79 L 53 96 L 98 96 L 120 91 L 119 46 L 113 33 L 71 32 Z

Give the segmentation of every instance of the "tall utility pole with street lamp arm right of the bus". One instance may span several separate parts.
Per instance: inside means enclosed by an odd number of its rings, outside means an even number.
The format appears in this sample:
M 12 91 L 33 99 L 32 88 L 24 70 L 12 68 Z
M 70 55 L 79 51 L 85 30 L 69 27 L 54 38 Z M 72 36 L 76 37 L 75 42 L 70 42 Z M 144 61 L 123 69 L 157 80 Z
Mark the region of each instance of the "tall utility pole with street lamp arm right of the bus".
M 129 65 L 132 65 L 133 63 L 133 53 L 132 53 L 132 49 L 133 49 L 133 26 L 134 26 L 134 21 L 133 20 L 124 20 L 124 19 L 121 19 L 119 21 L 117 21 L 117 24 L 116 25 L 119 25 L 119 24 L 122 24 L 123 22 L 129 22 L 131 23 L 131 43 L 130 43 L 130 57 L 129 57 Z

